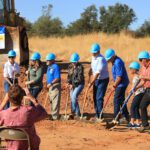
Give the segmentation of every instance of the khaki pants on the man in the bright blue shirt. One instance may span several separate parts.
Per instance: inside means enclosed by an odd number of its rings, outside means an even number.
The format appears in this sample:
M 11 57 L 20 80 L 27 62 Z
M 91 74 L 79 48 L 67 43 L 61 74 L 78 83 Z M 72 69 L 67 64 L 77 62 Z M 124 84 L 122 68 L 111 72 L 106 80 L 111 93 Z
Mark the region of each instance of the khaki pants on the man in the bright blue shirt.
M 61 98 L 61 85 L 60 83 L 53 84 L 49 88 L 49 100 L 52 118 L 54 120 L 59 118 L 60 110 L 60 98 Z

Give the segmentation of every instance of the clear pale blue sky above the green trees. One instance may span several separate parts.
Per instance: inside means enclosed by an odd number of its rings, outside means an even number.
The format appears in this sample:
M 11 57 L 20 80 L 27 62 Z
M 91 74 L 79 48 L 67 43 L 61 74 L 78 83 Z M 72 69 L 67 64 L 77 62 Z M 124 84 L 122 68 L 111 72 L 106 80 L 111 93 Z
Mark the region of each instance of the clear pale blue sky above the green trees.
M 150 0 L 15 0 L 16 9 L 21 16 L 34 22 L 41 15 L 42 6 L 52 4 L 52 16 L 59 17 L 64 26 L 80 18 L 83 10 L 95 4 L 100 6 L 114 5 L 119 2 L 133 8 L 138 20 L 131 25 L 137 29 L 145 20 L 150 20 Z

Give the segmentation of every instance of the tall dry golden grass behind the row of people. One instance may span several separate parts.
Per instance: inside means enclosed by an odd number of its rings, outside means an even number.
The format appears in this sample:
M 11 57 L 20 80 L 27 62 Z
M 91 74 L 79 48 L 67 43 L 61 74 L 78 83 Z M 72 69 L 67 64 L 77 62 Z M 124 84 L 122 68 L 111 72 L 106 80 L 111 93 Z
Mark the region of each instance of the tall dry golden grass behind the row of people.
M 116 54 L 126 62 L 136 60 L 140 51 L 150 49 L 150 38 L 135 39 L 124 33 L 118 35 L 92 33 L 64 38 L 34 37 L 29 39 L 31 52 L 39 51 L 43 60 L 50 52 L 55 53 L 58 60 L 69 60 L 70 55 L 77 52 L 81 61 L 90 61 L 89 50 L 91 44 L 95 42 L 101 45 L 102 54 L 106 49 L 113 48 Z

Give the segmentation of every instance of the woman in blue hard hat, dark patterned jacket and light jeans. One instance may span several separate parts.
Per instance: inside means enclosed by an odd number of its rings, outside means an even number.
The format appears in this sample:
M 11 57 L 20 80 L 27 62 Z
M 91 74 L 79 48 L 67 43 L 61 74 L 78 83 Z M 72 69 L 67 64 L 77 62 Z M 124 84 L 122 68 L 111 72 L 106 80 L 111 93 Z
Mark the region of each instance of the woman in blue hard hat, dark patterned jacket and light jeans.
M 79 60 L 79 55 L 77 53 L 73 53 L 68 67 L 67 83 L 70 89 L 71 113 L 73 118 L 80 116 L 78 96 L 84 88 L 84 69 Z

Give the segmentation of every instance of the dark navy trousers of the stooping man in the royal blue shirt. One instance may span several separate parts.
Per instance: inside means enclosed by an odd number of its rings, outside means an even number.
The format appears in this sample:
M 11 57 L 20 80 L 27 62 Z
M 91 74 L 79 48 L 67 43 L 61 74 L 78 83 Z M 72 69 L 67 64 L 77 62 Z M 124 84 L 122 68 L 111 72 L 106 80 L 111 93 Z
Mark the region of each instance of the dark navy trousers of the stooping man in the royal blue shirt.
M 118 112 L 120 111 L 121 106 L 123 105 L 123 102 L 125 100 L 125 92 L 126 92 L 127 86 L 124 87 L 117 87 L 115 90 L 114 95 L 114 117 L 117 116 Z M 127 109 L 127 106 L 125 105 L 123 112 L 123 116 L 129 120 L 129 112 Z

